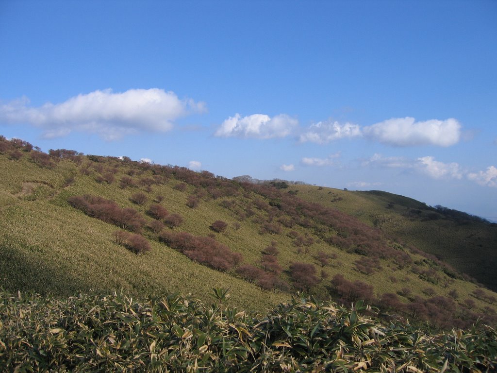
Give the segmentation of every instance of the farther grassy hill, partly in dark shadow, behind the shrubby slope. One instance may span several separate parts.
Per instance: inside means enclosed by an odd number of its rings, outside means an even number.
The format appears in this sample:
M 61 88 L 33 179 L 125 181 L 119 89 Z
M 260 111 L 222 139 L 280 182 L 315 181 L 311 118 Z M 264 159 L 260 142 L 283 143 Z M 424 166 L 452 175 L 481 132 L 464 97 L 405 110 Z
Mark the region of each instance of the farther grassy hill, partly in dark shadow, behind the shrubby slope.
M 422 202 L 384 191 L 295 188 L 301 198 L 357 216 L 497 290 L 497 224 L 457 222 Z

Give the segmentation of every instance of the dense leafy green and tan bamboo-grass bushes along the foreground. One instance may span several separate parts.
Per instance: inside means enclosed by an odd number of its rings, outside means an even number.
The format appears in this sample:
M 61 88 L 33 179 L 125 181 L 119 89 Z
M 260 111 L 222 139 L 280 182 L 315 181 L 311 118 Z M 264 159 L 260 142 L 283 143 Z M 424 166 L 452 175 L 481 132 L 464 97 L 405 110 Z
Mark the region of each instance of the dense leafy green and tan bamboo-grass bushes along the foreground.
M 164 295 L 68 299 L 0 292 L 6 371 L 495 372 L 497 332 L 429 334 L 333 302 L 294 297 L 267 315 Z M 221 294 L 221 295 L 220 295 Z

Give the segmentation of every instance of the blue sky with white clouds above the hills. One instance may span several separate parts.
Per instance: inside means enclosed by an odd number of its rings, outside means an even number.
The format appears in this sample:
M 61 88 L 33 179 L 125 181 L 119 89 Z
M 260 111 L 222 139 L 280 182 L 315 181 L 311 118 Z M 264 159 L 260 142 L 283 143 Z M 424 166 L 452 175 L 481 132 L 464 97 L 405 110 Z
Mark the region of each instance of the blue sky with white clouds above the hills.
M 0 134 L 497 220 L 497 1 L 0 0 Z

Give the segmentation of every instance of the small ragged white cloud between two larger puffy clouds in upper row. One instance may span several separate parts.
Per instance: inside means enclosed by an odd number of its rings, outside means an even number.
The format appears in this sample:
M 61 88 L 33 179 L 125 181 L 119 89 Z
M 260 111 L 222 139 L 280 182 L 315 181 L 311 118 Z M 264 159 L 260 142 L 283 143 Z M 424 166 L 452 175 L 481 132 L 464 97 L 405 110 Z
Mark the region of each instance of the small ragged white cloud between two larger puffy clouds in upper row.
M 329 143 L 346 137 L 361 136 L 360 126 L 352 123 L 318 122 L 311 124 L 309 131 L 300 135 L 301 142 Z

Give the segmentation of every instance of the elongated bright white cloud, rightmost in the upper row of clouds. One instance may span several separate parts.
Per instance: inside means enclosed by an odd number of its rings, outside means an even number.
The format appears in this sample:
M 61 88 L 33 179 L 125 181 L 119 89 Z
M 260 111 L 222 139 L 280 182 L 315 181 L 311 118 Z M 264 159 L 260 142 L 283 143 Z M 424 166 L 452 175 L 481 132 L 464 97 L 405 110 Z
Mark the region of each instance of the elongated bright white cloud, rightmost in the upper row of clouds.
M 392 118 L 362 129 L 363 134 L 381 143 L 395 146 L 451 146 L 461 137 L 461 125 L 454 118 L 415 122 L 414 118 Z

